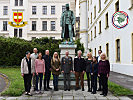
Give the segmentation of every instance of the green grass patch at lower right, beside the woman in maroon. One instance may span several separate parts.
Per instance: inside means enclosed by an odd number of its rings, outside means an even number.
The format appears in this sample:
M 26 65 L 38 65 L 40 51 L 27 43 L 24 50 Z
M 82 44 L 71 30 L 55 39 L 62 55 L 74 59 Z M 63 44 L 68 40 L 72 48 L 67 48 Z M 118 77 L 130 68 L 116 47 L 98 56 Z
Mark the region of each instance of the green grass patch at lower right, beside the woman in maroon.
M 108 82 L 109 90 L 115 95 L 115 96 L 133 96 L 133 91 L 126 89 L 118 84 L 115 84 L 113 82 Z

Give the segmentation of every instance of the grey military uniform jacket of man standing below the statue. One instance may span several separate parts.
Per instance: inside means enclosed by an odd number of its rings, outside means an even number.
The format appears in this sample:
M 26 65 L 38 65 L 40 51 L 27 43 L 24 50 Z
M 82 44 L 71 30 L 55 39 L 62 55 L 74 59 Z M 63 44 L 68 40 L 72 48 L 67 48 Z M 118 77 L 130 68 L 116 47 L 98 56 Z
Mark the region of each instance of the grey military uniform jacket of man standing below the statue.
M 70 56 L 68 56 L 68 58 L 62 57 L 61 70 L 64 71 L 64 73 L 70 73 L 70 71 L 73 70 L 72 57 Z

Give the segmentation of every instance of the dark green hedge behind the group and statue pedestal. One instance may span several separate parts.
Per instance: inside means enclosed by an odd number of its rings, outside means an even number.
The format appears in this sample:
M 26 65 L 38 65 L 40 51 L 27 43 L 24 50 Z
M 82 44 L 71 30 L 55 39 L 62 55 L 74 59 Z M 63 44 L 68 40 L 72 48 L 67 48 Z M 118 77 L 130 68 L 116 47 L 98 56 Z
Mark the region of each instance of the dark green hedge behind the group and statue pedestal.
M 20 66 L 21 59 L 25 56 L 26 51 L 33 52 L 33 48 L 37 48 L 39 52 L 45 53 L 49 49 L 51 56 L 55 51 L 60 53 L 59 44 L 61 40 L 48 39 L 47 37 L 41 39 L 34 39 L 27 41 L 19 38 L 4 38 L 0 37 L 0 66 Z M 80 40 L 75 42 L 78 47 L 84 52 L 83 44 Z

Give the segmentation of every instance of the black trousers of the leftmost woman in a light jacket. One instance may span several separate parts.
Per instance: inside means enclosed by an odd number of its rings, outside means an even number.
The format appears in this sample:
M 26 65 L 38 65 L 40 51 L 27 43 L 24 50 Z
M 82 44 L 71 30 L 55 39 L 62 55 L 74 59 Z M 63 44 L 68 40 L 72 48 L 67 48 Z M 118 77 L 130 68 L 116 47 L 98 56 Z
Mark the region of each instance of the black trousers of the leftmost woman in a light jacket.
M 25 92 L 30 92 L 32 74 L 24 74 L 24 77 L 23 78 L 24 78 Z

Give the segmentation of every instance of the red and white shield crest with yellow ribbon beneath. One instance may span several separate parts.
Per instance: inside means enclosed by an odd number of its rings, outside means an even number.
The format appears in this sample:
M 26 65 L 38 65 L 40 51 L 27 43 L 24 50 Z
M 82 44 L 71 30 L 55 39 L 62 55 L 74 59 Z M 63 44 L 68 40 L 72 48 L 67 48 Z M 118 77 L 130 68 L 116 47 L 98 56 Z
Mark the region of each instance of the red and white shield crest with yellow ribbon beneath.
M 12 27 L 24 27 L 27 22 L 23 22 L 23 12 L 13 12 L 13 22 L 8 22 Z

